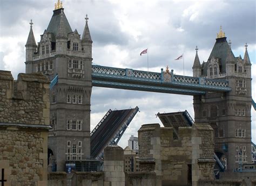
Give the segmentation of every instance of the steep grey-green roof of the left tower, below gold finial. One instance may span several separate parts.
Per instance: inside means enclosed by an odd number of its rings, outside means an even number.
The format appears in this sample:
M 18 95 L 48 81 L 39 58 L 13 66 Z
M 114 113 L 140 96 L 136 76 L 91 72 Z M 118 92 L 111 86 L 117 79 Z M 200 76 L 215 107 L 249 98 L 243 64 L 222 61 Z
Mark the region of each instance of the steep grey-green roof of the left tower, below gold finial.
M 58 27 L 59 27 L 59 23 L 60 23 L 60 13 L 63 10 L 64 9 L 53 10 L 53 15 L 52 15 L 50 23 L 49 23 L 49 25 L 46 29 L 47 32 L 53 33 L 55 37 L 57 35 Z M 64 28 L 65 28 L 66 33 L 72 32 L 72 29 L 69 25 L 68 19 L 66 19 L 66 16 L 65 16 L 64 12 L 63 12 L 63 24 L 64 24 Z

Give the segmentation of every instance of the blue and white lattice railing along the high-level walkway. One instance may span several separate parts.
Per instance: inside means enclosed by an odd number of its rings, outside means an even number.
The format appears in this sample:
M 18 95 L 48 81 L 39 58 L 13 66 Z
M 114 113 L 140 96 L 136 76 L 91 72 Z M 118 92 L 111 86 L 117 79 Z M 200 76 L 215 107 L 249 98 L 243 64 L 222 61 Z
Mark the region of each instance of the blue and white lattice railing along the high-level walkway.
M 169 78 L 166 78 L 167 76 L 169 76 Z M 113 68 L 92 65 L 92 80 L 99 81 L 100 79 L 103 79 L 105 81 L 106 78 L 111 79 L 111 82 L 129 80 L 143 83 L 165 83 L 166 85 L 172 84 L 178 87 L 188 86 L 194 88 L 206 88 L 217 91 L 231 91 L 231 88 L 228 87 L 228 81 L 226 80 L 175 75 L 173 74 L 173 70 L 171 70 L 170 73 L 166 73 L 163 71 L 163 69 L 161 69 L 161 73 L 156 73 L 152 71 L 141 71 L 128 68 Z

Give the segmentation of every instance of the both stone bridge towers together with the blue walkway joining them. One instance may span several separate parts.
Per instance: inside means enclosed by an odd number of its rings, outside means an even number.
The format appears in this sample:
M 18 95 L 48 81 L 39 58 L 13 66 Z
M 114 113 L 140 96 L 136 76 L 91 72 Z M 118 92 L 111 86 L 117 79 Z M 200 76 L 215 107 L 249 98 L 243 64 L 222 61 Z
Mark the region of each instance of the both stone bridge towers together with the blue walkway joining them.
M 90 99 L 92 86 L 193 96 L 194 120 L 214 129 L 215 154 L 226 170 L 251 163 L 251 61 L 235 57 L 231 42 L 220 30 L 206 62 L 200 63 L 198 48 L 193 77 L 92 65 L 92 39 L 85 18 L 82 39 L 72 31 L 62 4 L 53 10 L 50 23 L 36 44 L 31 20 L 26 42 L 26 73 L 41 72 L 50 85 L 49 145 L 57 170 L 68 160 L 90 159 Z

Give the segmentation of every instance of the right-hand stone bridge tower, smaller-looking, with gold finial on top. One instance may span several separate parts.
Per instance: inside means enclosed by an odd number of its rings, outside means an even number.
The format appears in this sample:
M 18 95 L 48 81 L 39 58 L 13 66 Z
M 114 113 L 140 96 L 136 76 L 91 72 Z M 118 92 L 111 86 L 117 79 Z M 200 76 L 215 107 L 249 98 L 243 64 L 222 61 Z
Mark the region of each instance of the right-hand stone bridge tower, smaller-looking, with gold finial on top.
M 215 153 L 227 164 L 227 171 L 251 163 L 252 79 L 247 44 L 244 59 L 235 57 L 220 28 L 207 62 L 200 63 L 196 48 L 193 76 L 228 80 L 230 92 L 194 96 L 194 119 L 213 127 Z

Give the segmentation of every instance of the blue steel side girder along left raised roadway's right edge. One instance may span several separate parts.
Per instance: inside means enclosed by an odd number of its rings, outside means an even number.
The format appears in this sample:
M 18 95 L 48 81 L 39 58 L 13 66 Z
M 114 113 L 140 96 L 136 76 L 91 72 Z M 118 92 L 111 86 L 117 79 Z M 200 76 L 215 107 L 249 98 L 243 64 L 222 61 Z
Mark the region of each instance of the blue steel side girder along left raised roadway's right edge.
M 120 126 L 120 128 L 118 129 L 118 131 L 113 135 L 113 137 L 111 138 L 111 140 L 106 144 L 105 147 L 109 146 L 109 145 L 117 145 L 118 141 L 121 139 L 122 135 L 124 134 L 126 128 L 129 126 L 129 124 L 131 123 L 133 117 L 136 115 L 136 113 L 139 111 L 138 106 L 136 106 L 136 108 L 134 109 L 134 111 L 131 113 L 131 115 L 124 121 L 124 123 Z M 103 158 L 104 156 L 104 149 L 99 153 L 99 155 L 96 157 L 97 160 L 100 160 Z

